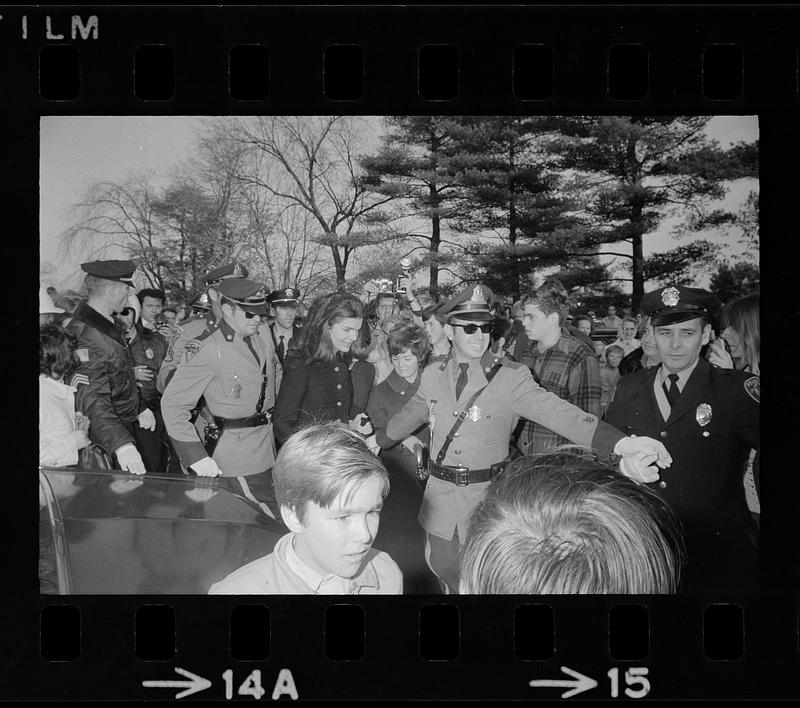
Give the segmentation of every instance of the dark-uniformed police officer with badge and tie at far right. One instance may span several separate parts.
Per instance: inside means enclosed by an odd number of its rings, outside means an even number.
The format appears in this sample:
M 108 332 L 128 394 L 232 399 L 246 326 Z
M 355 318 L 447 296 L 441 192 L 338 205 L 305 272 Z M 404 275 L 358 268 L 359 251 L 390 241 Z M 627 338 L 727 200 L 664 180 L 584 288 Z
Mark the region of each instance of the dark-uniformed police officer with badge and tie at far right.
M 634 435 L 662 440 L 674 464 L 653 487 L 686 533 L 683 590 L 748 592 L 757 588 L 757 529 L 742 485 L 750 448 L 758 448 L 759 378 L 711 366 L 700 350 L 711 337 L 718 300 L 673 285 L 647 293 L 661 365 L 623 376 L 606 420 Z

